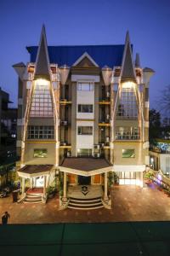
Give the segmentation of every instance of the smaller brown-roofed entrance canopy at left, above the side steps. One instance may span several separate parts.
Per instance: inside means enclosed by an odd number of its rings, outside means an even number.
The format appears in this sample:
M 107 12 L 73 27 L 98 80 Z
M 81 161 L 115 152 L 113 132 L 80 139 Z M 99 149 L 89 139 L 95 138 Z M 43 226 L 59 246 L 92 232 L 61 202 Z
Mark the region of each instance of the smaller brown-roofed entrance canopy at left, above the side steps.
M 24 166 L 20 168 L 18 174 L 20 177 L 37 177 L 42 175 L 48 175 L 52 168 L 53 165 Z

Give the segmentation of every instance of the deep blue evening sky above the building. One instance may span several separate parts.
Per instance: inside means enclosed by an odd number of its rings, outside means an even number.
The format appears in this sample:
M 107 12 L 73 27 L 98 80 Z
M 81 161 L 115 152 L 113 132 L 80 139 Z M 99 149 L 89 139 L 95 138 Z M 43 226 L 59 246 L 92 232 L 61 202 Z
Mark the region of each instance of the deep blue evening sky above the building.
M 12 65 L 29 61 L 26 46 L 39 43 L 42 23 L 48 45 L 124 44 L 129 30 L 133 54 L 156 71 L 150 107 L 170 84 L 169 0 L 0 0 L 0 86 L 17 102 Z

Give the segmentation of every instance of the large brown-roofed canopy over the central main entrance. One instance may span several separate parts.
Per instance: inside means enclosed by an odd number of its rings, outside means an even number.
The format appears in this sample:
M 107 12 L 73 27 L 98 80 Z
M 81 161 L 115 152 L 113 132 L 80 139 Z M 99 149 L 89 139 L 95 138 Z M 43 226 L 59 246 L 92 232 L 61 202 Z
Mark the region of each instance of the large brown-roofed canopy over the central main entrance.
M 82 176 L 92 176 L 112 171 L 112 165 L 102 158 L 69 157 L 63 160 L 59 170 Z

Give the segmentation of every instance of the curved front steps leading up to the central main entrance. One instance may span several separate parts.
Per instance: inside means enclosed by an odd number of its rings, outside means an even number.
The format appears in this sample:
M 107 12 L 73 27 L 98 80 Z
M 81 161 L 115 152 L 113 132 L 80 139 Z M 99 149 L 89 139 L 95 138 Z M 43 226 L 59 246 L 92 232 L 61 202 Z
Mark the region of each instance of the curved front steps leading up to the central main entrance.
M 68 208 L 77 209 L 77 210 L 93 210 L 102 208 L 103 203 L 101 201 L 101 197 L 88 198 L 88 199 L 80 199 L 75 197 L 69 198 Z

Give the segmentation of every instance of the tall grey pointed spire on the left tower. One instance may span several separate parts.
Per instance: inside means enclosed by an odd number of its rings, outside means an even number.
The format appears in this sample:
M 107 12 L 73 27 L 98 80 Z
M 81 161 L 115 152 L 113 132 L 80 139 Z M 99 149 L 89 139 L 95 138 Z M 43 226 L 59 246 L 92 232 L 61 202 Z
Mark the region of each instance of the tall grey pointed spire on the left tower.
M 42 26 L 40 43 L 37 49 L 35 78 L 49 79 L 49 56 L 45 26 Z

